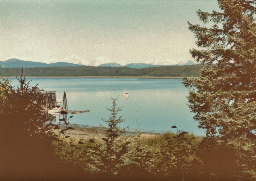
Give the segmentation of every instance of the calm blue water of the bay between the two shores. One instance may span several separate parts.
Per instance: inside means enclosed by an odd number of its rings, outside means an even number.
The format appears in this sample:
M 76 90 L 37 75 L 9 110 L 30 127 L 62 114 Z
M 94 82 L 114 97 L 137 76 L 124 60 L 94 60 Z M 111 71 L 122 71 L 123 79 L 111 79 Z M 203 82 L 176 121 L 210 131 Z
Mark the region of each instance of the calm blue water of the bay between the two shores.
M 12 81 L 12 85 L 17 85 L 16 79 Z M 186 105 L 188 90 L 181 79 L 32 78 L 30 85 L 37 83 L 40 89 L 56 91 L 57 99 L 63 98 L 65 91 L 68 110 L 90 110 L 73 114 L 72 124 L 104 124 L 101 118 L 108 119 L 110 115 L 106 110 L 112 105 L 109 99 L 119 97 L 116 104 L 123 110 L 117 116 L 123 116 L 125 122 L 121 126 L 129 126 L 129 130 L 136 129 L 137 121 L 142 131 L 176 131 L 171 128 L 175 125 L 196 135 L 204 133 Z M 122 97 L 124 89 L 130 94 L 128 99 Z

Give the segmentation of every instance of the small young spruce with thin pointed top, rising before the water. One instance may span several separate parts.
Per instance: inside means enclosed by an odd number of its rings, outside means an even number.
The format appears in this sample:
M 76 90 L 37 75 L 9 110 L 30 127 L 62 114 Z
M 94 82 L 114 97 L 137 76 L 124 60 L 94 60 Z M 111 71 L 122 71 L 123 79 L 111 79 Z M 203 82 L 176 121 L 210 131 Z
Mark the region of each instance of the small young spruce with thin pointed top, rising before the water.
M 77 152 L 78 158 L 82 160 L 80 163 L 84 164 L 82 167 L 94 173 L 94 176 L 95 173 L 99 173 L 99 177 L 112 177 L 118 174 L 120 167 L 124 164 L 123 156 L 127 153 L 127 145 L 131 143 L 125 138 L 120 138 L 125 129 L 120 128 L 118 124 L 124 119 L 122 116 L 117 117 L 117 113 L 121 111 L 121 108 L 116 108 L 117 98 L 111 98 L 111 100 L 113 101 L 112 107 L 107 108 L 111 116 L 109 119 L 102 119 L 108 125 L 103 127 L 106 137 L 101 140 L 89 139 L 86 144 L 82 140 L 78 141 L 78 144 L 70 143 L 73 149 L 68 152 L 73 157 Z

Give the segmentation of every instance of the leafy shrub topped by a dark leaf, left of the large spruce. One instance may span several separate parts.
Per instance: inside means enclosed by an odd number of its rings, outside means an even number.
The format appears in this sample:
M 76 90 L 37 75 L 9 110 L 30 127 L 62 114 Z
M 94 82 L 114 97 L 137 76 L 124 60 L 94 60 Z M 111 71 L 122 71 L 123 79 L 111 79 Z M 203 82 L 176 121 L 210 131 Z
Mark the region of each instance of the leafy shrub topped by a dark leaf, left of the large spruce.
M 177 128 L 173 126 L 172 128 Z M 161 146 L 160 152 L 156 154 L 158 163 L 156 173 L 162 179 L 189 180 L 192 164 L 196 159 L 196 146 L 191 142 L 195 137 L 186 138 L 188 132 L 178 130 L 177 134 L 166 137 L 166 143 Z M 196 173 L 193 173 L 195 176 Z

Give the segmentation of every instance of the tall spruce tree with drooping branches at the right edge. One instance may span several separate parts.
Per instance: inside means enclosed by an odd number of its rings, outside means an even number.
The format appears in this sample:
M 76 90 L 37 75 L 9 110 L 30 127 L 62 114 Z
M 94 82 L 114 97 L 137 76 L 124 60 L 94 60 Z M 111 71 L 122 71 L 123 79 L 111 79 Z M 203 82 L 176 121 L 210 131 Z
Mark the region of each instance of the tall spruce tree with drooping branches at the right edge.
M 200 49 L 190 49 L 207 65 L 199 77 L 183 77 L 194 119 L 206 135 L 220 140 L 256 140 L 256 0 L 218 0 L 220 12 L 198 10 L 210 25 L 188 23 Z

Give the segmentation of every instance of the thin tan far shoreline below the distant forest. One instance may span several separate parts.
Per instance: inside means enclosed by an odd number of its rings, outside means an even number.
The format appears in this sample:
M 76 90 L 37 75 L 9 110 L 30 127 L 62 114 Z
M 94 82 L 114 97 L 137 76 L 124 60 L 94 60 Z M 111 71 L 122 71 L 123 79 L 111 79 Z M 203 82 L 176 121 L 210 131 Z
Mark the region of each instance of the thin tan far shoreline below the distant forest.
M 5 77 L 8 78 L 8 77 Z M 10 76 L 9 78 L 16 78 Z M 157 76 L 26 76 L 26 78 L 141 78 L 141 79 L 182 79 L 182 76 L 177 77 L 157 77 Z M 188 76 L 188 79 L 192 79 L 192 76 Z

